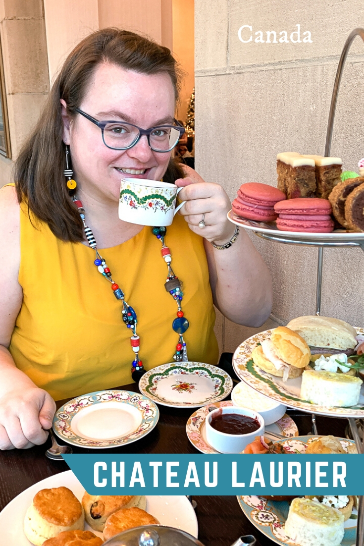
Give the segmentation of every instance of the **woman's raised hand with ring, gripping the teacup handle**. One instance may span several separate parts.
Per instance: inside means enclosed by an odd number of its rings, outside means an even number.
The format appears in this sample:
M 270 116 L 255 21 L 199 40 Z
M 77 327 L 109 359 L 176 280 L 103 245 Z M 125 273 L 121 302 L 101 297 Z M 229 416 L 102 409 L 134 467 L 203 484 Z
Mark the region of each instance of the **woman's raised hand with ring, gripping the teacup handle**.
M 179 214 L 184 216 L 194 233 L 214 244 L 224 245 L 230 241 L 235 232 L 235 225 L 226 218 L 226 214 L 231 209 L 229 197 L 222 186 L 204 182 L 195 171 L 192 173 L 192 176 L 175 182 L 176 186 L 183 186 L 178 198 L 186 201 Z M 199 222 L 204 214 L 205 227 L 200 228 Z

